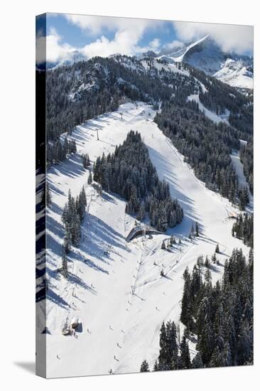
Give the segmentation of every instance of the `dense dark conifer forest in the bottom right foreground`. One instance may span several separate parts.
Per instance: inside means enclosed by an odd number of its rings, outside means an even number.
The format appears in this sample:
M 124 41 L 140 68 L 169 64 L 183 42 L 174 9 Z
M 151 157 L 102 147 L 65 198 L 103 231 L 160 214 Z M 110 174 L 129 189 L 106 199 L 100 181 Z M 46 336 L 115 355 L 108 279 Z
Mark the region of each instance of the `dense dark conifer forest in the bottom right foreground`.
M 183 274 L 183 338 L 178 341 L 174 323 L 163 323 L 153 370 L 253 364 L 253 251 L 247 262 L 242 250 L 234 250 L 224 264 L 222 282 L 215 286 L 210 267 L 203 273 L 198 261 L 191 274 L 188 269 Z M 188 340 L 192 335 L 197 338 L 197 355 L 191 361 Z M 141 371 L 148 370 L 144 360 Z

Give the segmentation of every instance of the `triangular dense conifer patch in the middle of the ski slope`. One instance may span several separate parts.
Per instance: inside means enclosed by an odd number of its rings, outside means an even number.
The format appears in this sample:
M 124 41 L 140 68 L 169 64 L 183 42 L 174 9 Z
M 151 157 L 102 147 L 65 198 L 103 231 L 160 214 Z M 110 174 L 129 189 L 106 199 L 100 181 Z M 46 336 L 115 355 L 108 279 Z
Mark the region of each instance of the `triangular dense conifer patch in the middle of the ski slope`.
M 93 179 L 105 191 L 121 195 L 127 201 L 126 213 L 142 221 L 146 213 L 151 225 L 159 231 L 174 227 L 183 219 L 178 200 L 170 197 L 168 183 L 158 179 L 148 149 L 138 132 L 129 132 L 114 154 L 98 157 L 94 162 Z

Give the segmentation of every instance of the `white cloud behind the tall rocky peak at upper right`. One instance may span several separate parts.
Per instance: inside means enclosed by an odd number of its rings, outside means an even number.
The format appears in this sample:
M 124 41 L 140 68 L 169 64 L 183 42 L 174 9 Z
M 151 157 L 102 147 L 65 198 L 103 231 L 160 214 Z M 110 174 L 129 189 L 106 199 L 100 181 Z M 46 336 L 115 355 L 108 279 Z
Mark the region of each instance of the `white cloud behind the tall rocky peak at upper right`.
M 224 51 L 242 54 L 253 50 L 253 27 L 232 24 L 173 22 L 179 39 L 187 42 L 207 34 Z

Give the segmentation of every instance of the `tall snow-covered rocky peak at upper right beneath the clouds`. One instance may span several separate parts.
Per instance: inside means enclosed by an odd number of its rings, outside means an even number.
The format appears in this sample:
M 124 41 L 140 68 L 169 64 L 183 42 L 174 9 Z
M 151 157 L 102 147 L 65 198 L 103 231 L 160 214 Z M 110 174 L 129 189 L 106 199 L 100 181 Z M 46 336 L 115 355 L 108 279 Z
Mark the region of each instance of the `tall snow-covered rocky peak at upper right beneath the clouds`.
M 253 60 L 246 55 L 224 53 L 210 36 L 158 56 L 167 63 L 188 63 L 233 87 L 253 88 Z

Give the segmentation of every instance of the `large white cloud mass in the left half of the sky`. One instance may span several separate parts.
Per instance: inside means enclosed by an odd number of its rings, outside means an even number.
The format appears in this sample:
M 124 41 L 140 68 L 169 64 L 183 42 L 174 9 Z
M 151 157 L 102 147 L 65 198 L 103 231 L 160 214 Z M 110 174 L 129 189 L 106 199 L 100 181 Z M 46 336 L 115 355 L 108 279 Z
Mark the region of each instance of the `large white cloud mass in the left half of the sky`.
M 47 41 L 48 62 L 67 60 L 74 50 L 78 50 L 85 58 L 92 58 L 96 55 L 107 57 L 114 53 L 136 55 L 146 50 L 157 50 L 160 45 L 158 38 L 154 38 L 146 47 L 139 46 L 139 41 L 146 29 L 161 26 L 161 21 L 80 15 L 66 15 L 66 18 L 92 36 L 102 35 L 82 48 L 74 48 L 61 43 L 62 37 L 51 28 L 47 37 L 38 38 L 39 47 L 45 45 L 45 39 Z M 107 31 L 114 32 L 111 40 L 105 36 Z M 43 56 L 38 55 L 39 59 L 40 57 Z

